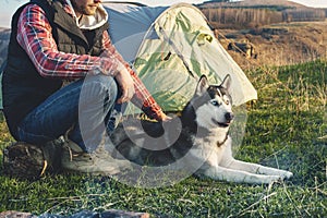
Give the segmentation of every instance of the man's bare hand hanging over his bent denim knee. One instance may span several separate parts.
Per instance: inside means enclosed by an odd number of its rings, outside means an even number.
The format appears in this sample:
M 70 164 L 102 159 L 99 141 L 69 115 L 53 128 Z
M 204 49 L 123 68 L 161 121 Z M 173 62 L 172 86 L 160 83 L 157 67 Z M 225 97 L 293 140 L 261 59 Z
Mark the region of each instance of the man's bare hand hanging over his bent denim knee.
M 131 100 L 135 94 L 135 89 L 133 78 L 129 71 L 126 69 L 120 70 L 114 77 L 122 92 L 122 95 L 117 102 L 122 104 Z

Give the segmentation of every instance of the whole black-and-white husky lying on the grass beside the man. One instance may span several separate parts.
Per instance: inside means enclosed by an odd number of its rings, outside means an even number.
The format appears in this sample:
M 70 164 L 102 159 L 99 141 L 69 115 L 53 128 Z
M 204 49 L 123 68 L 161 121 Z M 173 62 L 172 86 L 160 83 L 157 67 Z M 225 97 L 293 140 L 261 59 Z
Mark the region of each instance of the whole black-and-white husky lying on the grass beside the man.
M 111 136 L 119 155 L 150 166 L 169 166 L 183 159 L 179 164 L 181 169 L 199 162 L 194 168 L 195 174 L 229 182 L 263 184 L 291 178 L 292 172 L 232 157 L 232 140 L 228 134 L 234 118 L 228 92 L 230 83 L 227 75 L 220 85 L 209 85 L 203 75 L 193 98 L 171 122 L 128 119 Z

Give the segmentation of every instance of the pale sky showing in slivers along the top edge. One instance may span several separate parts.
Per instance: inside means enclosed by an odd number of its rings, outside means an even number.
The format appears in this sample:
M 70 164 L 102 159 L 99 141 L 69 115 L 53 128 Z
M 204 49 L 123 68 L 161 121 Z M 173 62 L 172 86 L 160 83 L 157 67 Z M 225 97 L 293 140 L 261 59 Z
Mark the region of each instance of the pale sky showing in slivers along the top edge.
M 15 10 L 28 0 L 0 0 L 0 27 L 10 27 L 10 20 Z M 118 0 L 119 1 L 119 0 Z M 121 0 L 131 2 L 141 2 L 150 7 L 171 5 L 178 2 L 202 3 L 204 0 Z M 205 0 L 207 1 L 207 0 Z M 326 0 L 292 0 L 307 7 L 327 8 Z

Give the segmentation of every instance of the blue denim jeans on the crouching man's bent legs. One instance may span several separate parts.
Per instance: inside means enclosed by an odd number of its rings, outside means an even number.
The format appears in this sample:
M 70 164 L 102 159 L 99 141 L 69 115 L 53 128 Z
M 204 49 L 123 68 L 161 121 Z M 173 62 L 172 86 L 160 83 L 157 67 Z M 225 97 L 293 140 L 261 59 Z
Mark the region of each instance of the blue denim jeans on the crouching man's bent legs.
M 73 82 L 23 119 L 19 137 L 31 144 L 44 144 L 69 131 L 71 141 L 92 153 L 113 131 L 109 121 L 117 97 L 118 85 L 111 76 L 87 76 Z

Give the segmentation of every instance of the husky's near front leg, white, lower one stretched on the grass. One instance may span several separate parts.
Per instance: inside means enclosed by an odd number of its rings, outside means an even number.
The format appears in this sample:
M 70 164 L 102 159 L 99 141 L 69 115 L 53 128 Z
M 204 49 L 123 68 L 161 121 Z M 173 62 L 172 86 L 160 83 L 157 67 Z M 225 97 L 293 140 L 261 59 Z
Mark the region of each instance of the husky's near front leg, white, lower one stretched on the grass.
M 279 175 L 266 175 L 245 172 L 242 170 L 234 170 L 225 167 L 209 167 L 202 171 L 201 174 L 205 174 L 214 180 L 225 180 L 228 182 L 251 183 L 251 184 L 269 184 L 280 180 Z

